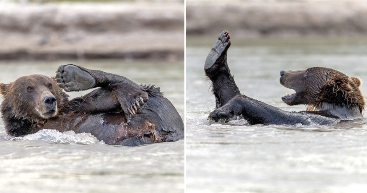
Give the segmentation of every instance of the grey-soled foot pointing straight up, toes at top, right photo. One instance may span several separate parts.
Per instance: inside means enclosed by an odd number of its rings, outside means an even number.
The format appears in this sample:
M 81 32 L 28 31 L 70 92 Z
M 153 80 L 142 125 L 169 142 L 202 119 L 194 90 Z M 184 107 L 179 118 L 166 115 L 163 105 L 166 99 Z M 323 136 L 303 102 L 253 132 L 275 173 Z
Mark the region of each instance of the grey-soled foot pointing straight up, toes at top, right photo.
M 227 50 L 230 46 L 230 37 L 227 31 L 219 34 L 218 40 L 211 48 L 206 60 L 204 69 L 207 70 L 213 66 L 220 66 L 226 59 Z M 217 65 L 215 65 L 217 64 Z

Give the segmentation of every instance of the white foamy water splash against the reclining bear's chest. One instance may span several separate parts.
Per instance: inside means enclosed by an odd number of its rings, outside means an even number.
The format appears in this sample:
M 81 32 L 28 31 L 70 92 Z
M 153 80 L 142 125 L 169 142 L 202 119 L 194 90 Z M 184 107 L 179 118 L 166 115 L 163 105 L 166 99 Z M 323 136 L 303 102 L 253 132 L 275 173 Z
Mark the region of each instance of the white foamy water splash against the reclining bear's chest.
M 41 131 L 23 137 L 14 137 L 11 140 L 44 140 L 54 143 L 76 144 L 105 144 L 90 133 L 75 133 L 74 131 L 59 132 L 54 129 L 42 129 Z

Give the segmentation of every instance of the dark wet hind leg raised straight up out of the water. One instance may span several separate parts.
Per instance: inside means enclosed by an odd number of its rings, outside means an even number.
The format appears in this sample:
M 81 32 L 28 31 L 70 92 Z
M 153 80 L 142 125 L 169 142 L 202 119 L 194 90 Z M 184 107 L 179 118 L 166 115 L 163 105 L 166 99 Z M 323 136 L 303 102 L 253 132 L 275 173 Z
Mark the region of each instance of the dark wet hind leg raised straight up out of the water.
M 229 100 L 240 94 L 227 64 L 227 51 L 230 37 L 227 31 L 219 34 L 218 40 L 211 48 L 204 65 L 205 74 L 212 82 L 212 92 L 216 107 L 224 106 Z

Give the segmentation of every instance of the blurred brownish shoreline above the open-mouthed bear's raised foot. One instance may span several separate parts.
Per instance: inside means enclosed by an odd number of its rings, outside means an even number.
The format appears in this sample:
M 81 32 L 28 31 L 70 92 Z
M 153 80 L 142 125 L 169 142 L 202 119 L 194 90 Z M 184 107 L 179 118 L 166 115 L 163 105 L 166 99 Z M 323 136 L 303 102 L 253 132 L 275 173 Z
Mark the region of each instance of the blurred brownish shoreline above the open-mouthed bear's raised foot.
M 186 1 L 187 36 L 227 30 L 244 38 L 367 34 L 367 1 Z

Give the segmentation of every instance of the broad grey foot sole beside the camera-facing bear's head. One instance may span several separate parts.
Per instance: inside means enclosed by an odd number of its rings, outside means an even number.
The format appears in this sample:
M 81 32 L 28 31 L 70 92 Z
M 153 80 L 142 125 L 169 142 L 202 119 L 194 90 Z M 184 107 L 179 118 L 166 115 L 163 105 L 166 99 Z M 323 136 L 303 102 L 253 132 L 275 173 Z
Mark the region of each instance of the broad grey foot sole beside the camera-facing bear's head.
M 72 64 L 57 69 L 56 81 L 66 92 L 88 90 L 96 83 L 92 75 Z

